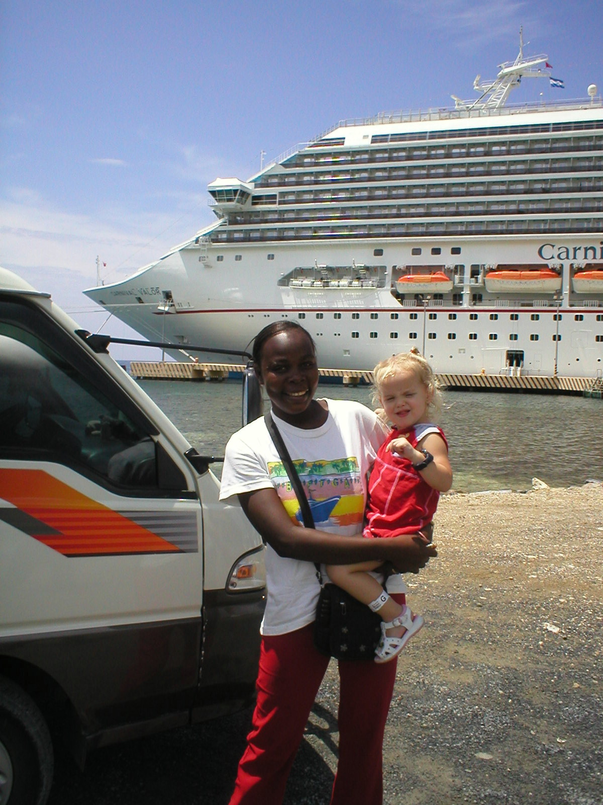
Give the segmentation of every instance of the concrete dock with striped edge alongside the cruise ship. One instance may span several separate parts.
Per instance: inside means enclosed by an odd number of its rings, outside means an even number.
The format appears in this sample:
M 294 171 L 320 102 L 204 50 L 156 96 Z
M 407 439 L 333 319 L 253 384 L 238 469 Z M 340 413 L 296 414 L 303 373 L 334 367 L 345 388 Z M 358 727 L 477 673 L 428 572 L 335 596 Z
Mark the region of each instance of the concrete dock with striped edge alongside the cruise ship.
M 242 364 L 196 363 L 187 361 L 131 361 L 129 374 L 138 380 L 188 380 L 219 382 L 240 378 Z M 367 386 L 372 372 L 359 369 L 318 369 L 321 382 L 344 386 Z M 437 374 L 441 386 L 453 391 L 515 391 L 535 394 L 575 394 L 601 398 L 601 378 L 560 378 L 530 374 Z

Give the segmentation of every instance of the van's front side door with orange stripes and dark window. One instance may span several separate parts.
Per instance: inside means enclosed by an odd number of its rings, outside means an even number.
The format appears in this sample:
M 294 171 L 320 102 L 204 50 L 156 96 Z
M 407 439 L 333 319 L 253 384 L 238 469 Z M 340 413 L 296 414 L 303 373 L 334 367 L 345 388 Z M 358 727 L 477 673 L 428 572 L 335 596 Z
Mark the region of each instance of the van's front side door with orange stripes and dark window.
M 194 473 L 83 342 L 0 296 L 0 658 L 84 737 L 187 723 L 203 634 Z

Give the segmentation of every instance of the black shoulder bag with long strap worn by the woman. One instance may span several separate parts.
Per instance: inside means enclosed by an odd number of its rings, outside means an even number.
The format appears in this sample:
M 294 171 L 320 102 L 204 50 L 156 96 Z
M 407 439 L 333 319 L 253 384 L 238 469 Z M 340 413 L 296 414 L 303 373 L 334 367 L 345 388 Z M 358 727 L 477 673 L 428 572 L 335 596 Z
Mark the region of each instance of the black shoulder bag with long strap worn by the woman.
M 269 411 L 266 427 L 281 457 L 297 497 L 306 528 L 314 528 L 314 517 L 289 451 Z M 335 659 L 373 660 L 381 639 L 381 618 L 336 584 L 323 584 L 320 564 L 314 563 L 320 595 L 314 621 L 314 646 L 321 654 Z

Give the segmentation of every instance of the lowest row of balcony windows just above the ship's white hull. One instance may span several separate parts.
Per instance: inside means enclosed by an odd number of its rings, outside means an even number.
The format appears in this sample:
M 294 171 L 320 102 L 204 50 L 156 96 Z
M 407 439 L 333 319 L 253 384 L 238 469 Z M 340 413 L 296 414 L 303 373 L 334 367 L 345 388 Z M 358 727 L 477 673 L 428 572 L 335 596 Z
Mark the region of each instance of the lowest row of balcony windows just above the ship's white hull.
M 555 219 L 505 219 L 503 221 L 433 221 L 432 223 L 392 223 L 373 225 L 348 225 L 333 222 L 326 226 L 300 226 L 282 229 L 216 229 L 211 233 L 212 242 L 290 241 L 309 238 L 355 238 L 355 237 L 446 237 L 466 234 L 564 234 L 600 233 L 601 218 Z

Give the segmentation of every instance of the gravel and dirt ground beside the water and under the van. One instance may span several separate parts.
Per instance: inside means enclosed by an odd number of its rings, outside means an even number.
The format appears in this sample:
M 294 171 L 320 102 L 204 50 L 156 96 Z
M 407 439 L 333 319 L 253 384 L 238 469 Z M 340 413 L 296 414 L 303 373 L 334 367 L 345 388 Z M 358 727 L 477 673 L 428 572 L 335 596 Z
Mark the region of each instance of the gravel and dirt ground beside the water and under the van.
M 398 666 L 384 802 L 601 805 L 601 483 L 445 495 L 435 541 L 407 576 L 426 625 Z M 329 801 L 337 700 L 331 663 L 286 805 Z M 228 803 L 249 718 L 101 749 L 83 774 L 59 758 L 49 805 Z

